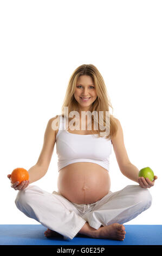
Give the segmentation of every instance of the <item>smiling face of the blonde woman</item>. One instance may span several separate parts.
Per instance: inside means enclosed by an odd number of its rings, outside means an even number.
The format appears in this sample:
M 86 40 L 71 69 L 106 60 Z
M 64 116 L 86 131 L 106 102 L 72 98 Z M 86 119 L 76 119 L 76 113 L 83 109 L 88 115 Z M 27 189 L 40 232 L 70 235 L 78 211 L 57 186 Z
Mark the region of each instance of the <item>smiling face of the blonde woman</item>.
M 79 104 L 79 111 L 88 111 L 96 100 L 97 93 L 92 77 L 81 75 L 76 83 L 74 97 Z

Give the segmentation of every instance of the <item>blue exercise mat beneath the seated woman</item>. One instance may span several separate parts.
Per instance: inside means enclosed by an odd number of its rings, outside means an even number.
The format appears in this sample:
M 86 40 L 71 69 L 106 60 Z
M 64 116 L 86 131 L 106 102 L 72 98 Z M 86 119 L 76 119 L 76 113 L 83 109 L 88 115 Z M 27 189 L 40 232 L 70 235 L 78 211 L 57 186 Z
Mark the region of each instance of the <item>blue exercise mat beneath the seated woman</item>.
M 47 228 L 36 225 L 0 225 L 0 245 L 162 245 L 162 225 L 125 225 L 124 241 L 92 239 L 77 235 L 64 240 L 62 235 L 47 238 Z

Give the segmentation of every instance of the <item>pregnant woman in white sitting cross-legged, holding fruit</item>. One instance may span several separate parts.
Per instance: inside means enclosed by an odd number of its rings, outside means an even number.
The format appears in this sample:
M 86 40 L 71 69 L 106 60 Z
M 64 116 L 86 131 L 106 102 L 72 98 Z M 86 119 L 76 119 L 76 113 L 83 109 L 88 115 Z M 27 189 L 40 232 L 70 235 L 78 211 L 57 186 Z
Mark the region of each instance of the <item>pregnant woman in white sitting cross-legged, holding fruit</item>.
M 79 233 L 124 240 L 123 223 L 151 206 L 148 188 L 154 185 L 157 176 L 153 181 L 138 177 L 139 170 L 129 161 L 126 152 L 120 121 L 111 114 L 107 118 L 110 106 L 98 69 L 92 64 L 79 66 L 70 77 L 62 114 L 48 121 L 40 157 L 28 170 L 29 181 L 11 184 L 19 190 L 15 200 L 17 208 L 47 227 L 44 233 L 47 237 L 59 233 L 71 240 Z M 65 107 L 67 114 L 63 114 Z M 100 113 L 103 113 L 102 120 Z M 47 173 L 55 142 L 58 189 L 49 193 L 30 184 Z M 116 192 L 110 190 L 112 147 L 121 173 L 137 185 L 128 185 Z

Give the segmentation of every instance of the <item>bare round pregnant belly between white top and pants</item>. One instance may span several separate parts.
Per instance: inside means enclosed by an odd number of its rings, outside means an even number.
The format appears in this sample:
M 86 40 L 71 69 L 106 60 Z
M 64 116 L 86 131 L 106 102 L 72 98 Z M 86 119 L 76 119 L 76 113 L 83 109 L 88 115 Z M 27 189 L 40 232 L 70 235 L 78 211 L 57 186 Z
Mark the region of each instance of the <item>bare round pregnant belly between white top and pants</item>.
M 111 181 L 108 171 L 96 163 L 72 163 L 59 172 L 61 195 L 76 204 L 92 204 L 106 196 Z

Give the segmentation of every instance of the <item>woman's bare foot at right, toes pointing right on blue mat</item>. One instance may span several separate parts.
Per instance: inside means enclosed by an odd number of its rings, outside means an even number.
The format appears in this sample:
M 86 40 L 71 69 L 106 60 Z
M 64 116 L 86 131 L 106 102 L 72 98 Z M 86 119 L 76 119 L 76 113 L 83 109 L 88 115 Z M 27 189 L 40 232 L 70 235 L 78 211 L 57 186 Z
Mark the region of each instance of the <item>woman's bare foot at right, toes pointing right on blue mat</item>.
M 125 239 L 125 234 L 126 231 L 124 225 L 113 223 L 105 227 L 100 227 L 96 233 L 96 238 L 107 238 L 123 241 Z

